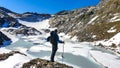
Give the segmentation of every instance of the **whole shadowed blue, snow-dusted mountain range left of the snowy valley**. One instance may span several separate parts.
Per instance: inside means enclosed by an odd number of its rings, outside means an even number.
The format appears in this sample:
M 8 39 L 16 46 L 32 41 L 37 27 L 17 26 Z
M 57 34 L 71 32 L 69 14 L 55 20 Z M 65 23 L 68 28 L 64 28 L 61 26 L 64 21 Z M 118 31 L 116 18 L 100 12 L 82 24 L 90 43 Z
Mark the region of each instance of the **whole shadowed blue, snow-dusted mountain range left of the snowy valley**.
M 29 21 L 29 22 L 40 22 L 45 19 L 50 18 L 49 14 L 37 14 L 26 12 L 23 14 L 18 14 L 10 11 L 4 7 L 0 7 L 0 31 L 7 32 L 12 35 L 39 35 L 41 34 L 40 30 L 29 27 L 21 23 L 20 21 Z M 2 38 L 2 37 L 0 37 Z M 1 42 L 2 43 L 2 42 Z

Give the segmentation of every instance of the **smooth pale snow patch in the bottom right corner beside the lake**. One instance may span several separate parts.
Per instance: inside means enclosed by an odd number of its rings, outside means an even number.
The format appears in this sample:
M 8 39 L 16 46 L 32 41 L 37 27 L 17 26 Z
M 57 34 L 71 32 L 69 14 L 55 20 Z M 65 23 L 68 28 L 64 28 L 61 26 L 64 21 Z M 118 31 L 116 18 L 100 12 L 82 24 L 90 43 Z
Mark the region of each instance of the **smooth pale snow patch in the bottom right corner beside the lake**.
M 120 61 L 117 59 L 119 57 L 107 53 L 102 53 L 100 51 L 90 51 L 92 56 L 96 58 L 96 60 L 102 63 L 104 66 L 108 68 L 119 68 Z

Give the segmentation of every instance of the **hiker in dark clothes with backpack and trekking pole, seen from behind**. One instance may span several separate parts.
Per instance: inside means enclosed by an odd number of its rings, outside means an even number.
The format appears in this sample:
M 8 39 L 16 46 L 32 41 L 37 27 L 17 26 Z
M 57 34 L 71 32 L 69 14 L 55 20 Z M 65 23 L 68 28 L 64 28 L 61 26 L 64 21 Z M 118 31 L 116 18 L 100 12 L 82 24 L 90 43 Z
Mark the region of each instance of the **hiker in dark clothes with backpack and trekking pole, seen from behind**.
M 58 49 L 58 42 L 64 43 L 64 41 L 59 40 L 59 36 L 57 34 L 57 29 L 55 31 L 50 32 L 50 36 L 47 38 L 47 41 L 50 41 L 50 43 L 52 44 L 52 53 L 51 53 L 50 61 L 54 62 L 54 56 Z

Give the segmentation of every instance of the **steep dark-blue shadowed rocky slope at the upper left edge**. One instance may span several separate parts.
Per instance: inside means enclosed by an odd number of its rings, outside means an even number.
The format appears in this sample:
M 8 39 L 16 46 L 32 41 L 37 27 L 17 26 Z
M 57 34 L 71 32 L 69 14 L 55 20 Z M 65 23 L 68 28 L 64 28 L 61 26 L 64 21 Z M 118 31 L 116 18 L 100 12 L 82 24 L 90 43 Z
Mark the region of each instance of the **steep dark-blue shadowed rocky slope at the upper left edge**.
M 12 12 L 6 8 L 0 7 L 0 27 L 19 27 L 21 24 L 14 17 L 19 14 Z M 13 17 L 14 16 L 14 17 Z

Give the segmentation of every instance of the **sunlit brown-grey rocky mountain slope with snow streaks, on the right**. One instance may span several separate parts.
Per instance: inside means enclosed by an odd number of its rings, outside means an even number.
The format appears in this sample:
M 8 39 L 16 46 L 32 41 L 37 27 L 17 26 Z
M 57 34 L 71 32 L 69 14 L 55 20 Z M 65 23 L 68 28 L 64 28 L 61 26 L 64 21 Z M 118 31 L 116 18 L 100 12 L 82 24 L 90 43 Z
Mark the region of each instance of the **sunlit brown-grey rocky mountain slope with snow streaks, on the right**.
M 110 39 L 120 31 L 119 5 L 120 0 L 102 0 L 97 6 L 61 11 L 50 19 L 50 24 L 60 32 L 78 36 L 79 41 Z

